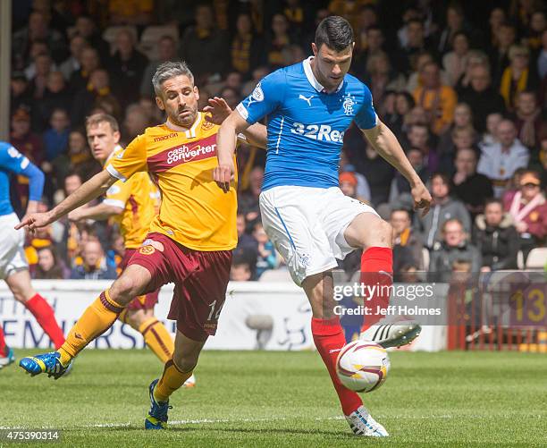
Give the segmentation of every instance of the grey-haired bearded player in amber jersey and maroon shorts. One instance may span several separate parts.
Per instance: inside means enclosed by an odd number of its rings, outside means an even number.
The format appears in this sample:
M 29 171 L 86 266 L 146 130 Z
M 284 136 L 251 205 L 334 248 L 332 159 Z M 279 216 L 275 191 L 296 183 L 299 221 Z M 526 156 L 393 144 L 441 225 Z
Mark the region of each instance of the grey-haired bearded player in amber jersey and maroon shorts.
M 169 397 L 192 375 L 209 336 L 215 335 L 230 276 L 231 251 L 237 244 L 237 193 L 216 188 L 216 133 L 230 114 L 222 98 L 212 98 L 198 111 L 198 88 L 186 63 L 163 63 L 153 78 L 156 104 L 167 120 L 147 128 L 112 157 L 105 170 L 46 213 L 32 213 L 18 228 L 53 223 L 140 172 L 151 173 L 162 193 L 159 215 L 147 240 L 133 253 L 122 275 L 102 292 L 72 327 L 58 351 L 21 359 L 30 375 L 58 378 L 89 342 L 104 334 L 130 301 L 174 283 L 168 318 L 177 321 L 173 358 L 149 385 L 151 408 L 147 429 L 167 424 Z M 206 114 L 206 112 L 210 114 Z M 265 148 L 265 126 L 249 127 L 245 137 Z M 234 185 L 235 187 L 235 185 Z

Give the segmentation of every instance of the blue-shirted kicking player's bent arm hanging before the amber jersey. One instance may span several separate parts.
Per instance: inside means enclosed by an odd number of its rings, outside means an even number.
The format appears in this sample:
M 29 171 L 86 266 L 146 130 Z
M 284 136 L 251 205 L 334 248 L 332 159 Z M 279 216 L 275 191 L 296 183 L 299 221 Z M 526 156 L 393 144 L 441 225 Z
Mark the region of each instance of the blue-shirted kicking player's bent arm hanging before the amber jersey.
M 234 179 L 235 166 L 233 154 L 236 146 L 236 136 L 249 127 L 247 121 L 238 111 L 233 111 L 224 120 L 216 139 L 216 156 L 218 166 L 213 171 L 213 179 L 225 193 L 230 190 L 230 182 Z

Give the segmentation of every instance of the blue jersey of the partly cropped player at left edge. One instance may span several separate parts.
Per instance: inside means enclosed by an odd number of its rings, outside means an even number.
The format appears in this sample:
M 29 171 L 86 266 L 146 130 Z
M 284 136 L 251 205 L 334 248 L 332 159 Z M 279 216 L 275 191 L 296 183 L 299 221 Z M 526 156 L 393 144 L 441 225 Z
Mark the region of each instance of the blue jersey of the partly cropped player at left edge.
M 13 213 L 10 200 L 10 174 L 29 178 L 29 200 L 40 200 L 44 189 L 44 173 L 10 143 L 0 141 L 0 216 Z

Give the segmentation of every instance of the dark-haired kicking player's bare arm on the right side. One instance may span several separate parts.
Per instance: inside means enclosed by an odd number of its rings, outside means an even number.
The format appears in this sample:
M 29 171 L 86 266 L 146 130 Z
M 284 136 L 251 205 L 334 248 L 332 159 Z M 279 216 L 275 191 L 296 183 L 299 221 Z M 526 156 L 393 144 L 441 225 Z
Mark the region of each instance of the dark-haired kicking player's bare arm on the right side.
M 366 139 L 378 154 L 405 176 L 410 184 L 414 207 L 415 209 L 422 208 L 422 216 L 425 216 L 431 207 L 431 194 L 429 194 L 424 182 L 422 182 L 412 165 L 410 165 L 407 156 L 400 147 L 397 137 L 391 132 L 390 128 L 380 121 L 378 121 L 378 124 L 374 128 L 362 129 L 361 131 L 363 131 Z

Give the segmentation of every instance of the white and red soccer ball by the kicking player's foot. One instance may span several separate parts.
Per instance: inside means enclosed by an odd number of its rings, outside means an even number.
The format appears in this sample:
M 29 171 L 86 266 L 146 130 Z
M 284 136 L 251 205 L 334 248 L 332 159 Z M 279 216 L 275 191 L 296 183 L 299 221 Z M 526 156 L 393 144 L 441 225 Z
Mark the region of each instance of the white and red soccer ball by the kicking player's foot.
M 336 359 L 341 384 L 355 392 L 372 392 L 383 385 L 390 371 L 387 351 L 375 342 L 354 341 Z

